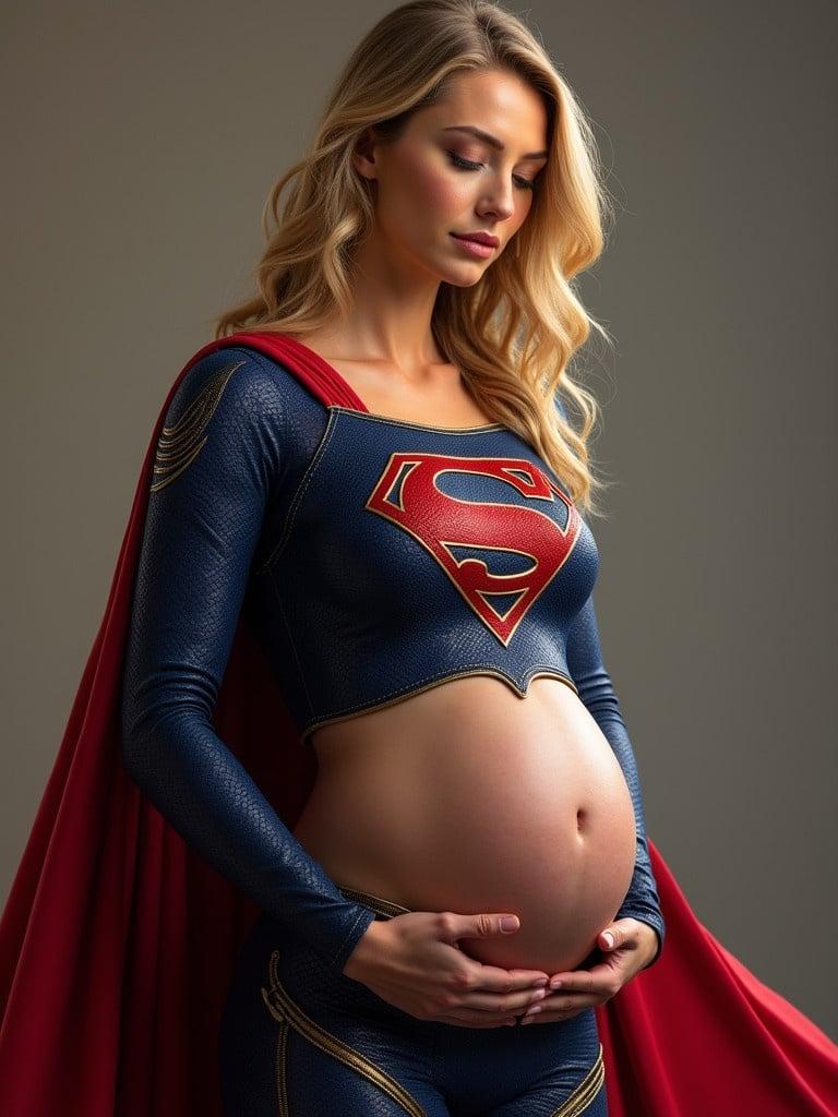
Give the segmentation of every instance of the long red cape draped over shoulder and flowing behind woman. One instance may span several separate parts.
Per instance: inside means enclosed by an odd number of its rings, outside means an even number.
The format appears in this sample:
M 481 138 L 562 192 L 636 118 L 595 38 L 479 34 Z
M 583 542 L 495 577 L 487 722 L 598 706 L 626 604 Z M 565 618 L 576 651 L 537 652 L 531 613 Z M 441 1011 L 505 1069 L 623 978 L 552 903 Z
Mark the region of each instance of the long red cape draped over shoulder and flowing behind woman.
M 120 698 L 163 416 L 194 361 L 241 344 L 283 361 L 324 404 L 365 410 L 316 354 L 268 332 L 211 342 L 174 381 L 0 920 L 4 1117 L 221 1114 L 221 1005 L 258 908 L 190 850 L 124 773 Z M 312 789 L 315 754 L 301 744 L 244 619 L 215 724 L 293 828 Z M 713 937 L 651 841 L 649 850 L 667 938 L 655 965 L 597 1009 L 611 1117 L 835 1117 L 838 1047 Z

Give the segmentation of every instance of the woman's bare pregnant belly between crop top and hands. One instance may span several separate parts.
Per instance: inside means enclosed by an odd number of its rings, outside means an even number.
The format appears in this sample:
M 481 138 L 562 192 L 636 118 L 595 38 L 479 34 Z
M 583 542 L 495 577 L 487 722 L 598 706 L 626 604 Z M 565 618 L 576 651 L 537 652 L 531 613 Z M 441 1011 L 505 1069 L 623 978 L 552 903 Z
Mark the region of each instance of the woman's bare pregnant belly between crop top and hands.
M 520 929 L 459 946 L 480 962 L 578 967 L 631 881 L 635 817 L 578 696 L 525 699 L 451 680 L 313 737 L 318 775 L 294 833 L 336 884 L 411 910 L 514 913 Z

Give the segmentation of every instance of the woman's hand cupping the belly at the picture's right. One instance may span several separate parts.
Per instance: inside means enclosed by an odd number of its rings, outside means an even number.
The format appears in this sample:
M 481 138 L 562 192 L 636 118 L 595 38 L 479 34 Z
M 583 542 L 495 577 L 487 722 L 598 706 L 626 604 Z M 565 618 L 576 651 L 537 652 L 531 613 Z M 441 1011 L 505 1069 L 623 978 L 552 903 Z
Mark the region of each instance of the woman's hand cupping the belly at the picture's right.
M 527 1009 L 522 1027 L 570 1020 L 591 1005 L 610 1001 L 655 956 L 658 936 L 648 923 L 627 917 L 603 927 L 597 936 L 597 946 L 603 960 L 590 970 L 553 974 L 547 995 Z

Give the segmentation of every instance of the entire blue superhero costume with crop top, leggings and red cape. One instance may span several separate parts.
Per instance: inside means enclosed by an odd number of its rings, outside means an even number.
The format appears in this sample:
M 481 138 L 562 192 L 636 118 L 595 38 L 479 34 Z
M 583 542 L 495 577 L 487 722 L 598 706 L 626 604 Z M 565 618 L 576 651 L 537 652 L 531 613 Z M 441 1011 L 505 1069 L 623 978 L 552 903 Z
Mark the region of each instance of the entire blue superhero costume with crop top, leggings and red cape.
M 523 555 L 510 546 L 521 524 Z M 418 562 L 435 593 L 416 613 L 406 575 Z M 353 564 L 382 573 L 387 611 Z M 265 331 L 194 354 L 155 424 L 0 920 L 6 1117 L 217 1117 L 219 1066 L 228 1100 L 250 1088 L 248 1113 L 288 1111 L 283 1083 L 305 1106 L 316 1076 L 331 1086 L 311 1095 L 317 1105 L 345 1090 L 358 1111 L 436 1113 L 434 1075 L 463 1111 L 508 1102 L 503 1117 L 592 1117 L 604 1111 L 603 1076 L 611 1117 L 838 1110 L 838 1049 L 696 919 L 645 833 L 602 666 L 596 575 L 596 545 L 566 493 L 499 424 L 451 432 L 381 420 L 311 350 Z M 406 653 L 387 660 L 388 640 Z M 585 1013 L 526 1029 L 436 1024 L 427 1043 L 420 1021 L 406 1033 L 412 1018 L 342 974 L 372 919 L 398 906 L 330 880 L 288 829 L 314 781 L 316 725 L 464 670 L 518 693 L 545 671 L 574 687 L 631 791 L 637 859 L 619 914 L 661 942 L 666 929 L 666 948 L 597 1008 L 598 1057 Z M 409 1065 L 428 1051 L 430 1063 Z M 248 1058 L 264 1076 L 268 1056 L 270 1098 L 261 1079 L 235 1080 Z M 575 1078 L 546 1077 L 562 1068 Z M 518 1086 L 520 1109 L 498 1092 Z

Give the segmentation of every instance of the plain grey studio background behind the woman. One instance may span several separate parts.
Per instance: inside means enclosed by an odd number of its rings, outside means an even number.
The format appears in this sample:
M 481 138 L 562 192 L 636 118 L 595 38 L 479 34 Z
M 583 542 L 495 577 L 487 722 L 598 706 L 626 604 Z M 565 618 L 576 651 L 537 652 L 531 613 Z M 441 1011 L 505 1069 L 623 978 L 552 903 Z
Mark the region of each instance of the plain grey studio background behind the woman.
M 3 7 L 2 898 L 165 393 L 391 7 Z M 698 918 L 836 1038 L 838 8 L 527 10 L 620 207 L 583 285 L 619 343 L 587 357 L 616 483 L 592 526 L 649 834 Z

